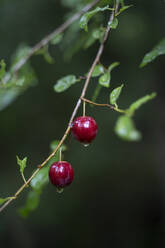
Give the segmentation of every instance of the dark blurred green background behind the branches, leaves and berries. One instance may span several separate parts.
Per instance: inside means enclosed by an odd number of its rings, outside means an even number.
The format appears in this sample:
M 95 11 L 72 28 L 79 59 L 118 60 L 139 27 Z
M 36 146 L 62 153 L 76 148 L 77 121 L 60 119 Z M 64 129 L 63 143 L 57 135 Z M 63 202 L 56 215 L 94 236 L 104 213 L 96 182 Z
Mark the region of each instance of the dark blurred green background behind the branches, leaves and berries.
M 144 69 L 139 64 L 146 52 L 165 36 L 165 1 L 127 1 L 133 4 L 119 17 L 101 62 L 120 61 L 112 73 L 112 88 L 125 84 L 120 105 L 156 91 L 135 116 L 143 140 L 128 143 L 114 133 L 118 114 L 87 107 L 98 123 L 96 140 L 85 148 L 67 139 L 65 159 L 74 167 L 75 180 L 63 194 L 48 185 L 39 208 L 28 219 L 17 214 L 24 204 L 19 199 L 0 214 L 2 248 L 37 247 L 164 247 L 165 245 L 165 115 L 164 65 L 159 57 Z M 20 43 L 32 46 L 64 21 L 70 11 L 59 0 L 0 1 L 0 59 L 7 63 Z M 66 17 L 66 16 L 65 16 Z M 64 60 L 62 46 L 51 48 L 55 63 L 41 56 L 31 59 L 38 85 L 29 88 L 0 112 L 0 197 L 13 194 L 22 184 L 16 155 L 28 157 L 26 177 L 49 153 L 49 144 L 60 139 L 67 126 L 82 84 L 63 94 L 53 85 L 67 74 L 83 75 L 89 69 L 98 43 L 87 51 Z M 87 92 L 90 98 L 96 82 Z M 107 102 L 102 90 L 98 102 Z M 81 109 L 79 111 L 81 114 Z

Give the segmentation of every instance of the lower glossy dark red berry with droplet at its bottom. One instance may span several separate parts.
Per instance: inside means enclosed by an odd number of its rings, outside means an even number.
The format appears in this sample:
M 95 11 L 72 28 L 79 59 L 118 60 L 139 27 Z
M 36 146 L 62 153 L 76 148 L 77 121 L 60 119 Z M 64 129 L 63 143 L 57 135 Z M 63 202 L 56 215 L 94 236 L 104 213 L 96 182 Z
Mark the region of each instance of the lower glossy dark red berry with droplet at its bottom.
M 55 162 L 50 166 L 49 178 L 57 188 L 64 188 L 71 184 L 74 177 L 72 166 L 65 161 Z

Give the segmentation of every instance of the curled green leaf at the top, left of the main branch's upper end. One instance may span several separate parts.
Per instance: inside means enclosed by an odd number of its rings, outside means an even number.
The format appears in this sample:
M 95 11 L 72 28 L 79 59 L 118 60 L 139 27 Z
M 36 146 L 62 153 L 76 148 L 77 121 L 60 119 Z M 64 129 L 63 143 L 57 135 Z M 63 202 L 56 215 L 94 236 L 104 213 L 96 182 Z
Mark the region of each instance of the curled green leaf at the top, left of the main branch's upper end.
M 85 13 L 81 19 L 80 19 L 80 28 L 84 29 L 86 32 L 88 31 L 88 22 L 89 20 L 92 18 L 92 16 L 94 16 L 96 13 L 100 12 L 100 11 L 105 11 L 109 8 L 109 6 L 105 6 L 104 8 L 100 8 L 97 7 L 92 11 L 88 11 L 87 13 Z

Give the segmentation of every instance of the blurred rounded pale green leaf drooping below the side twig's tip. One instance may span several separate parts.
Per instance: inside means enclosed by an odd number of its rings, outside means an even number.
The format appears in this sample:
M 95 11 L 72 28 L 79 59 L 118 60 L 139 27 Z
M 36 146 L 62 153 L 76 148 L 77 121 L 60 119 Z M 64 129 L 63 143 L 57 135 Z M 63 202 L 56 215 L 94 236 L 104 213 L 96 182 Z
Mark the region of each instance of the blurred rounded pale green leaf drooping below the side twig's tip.
M 126 141 L 138 141 L 141 139 L 141 133 L 136 130 L 133 120 L 126 115 L 118 118 L 115 133 Z

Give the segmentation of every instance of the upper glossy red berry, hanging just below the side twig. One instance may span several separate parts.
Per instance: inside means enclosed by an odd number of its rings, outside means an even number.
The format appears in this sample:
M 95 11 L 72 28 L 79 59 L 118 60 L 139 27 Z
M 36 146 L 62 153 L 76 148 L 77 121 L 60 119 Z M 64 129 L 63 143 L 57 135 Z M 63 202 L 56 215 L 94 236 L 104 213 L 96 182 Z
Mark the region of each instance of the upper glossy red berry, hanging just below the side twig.
M 77 117 L 71 125 L 72 134 L 78 141 L 89 144 L 96 137 L 97 123 L 90 116 Z

